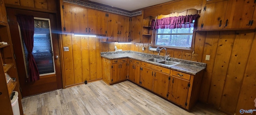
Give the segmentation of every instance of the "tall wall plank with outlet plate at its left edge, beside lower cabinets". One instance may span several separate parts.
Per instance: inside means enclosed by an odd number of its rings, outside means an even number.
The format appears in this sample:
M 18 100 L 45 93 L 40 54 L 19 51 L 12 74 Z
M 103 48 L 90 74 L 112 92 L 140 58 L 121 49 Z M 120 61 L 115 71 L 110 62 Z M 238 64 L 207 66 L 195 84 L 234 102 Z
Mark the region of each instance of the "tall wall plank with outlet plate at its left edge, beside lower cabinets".
M 217 52 L 218 40 L 220 38 L 220 32 L 207 32 L 204 45 L 204 53 L 203 53 L 203 63 L 206 63 L 207 67 L 204 71 L 203 79 L 202 79 L 202 87 L 199 95 L 199 100 L 201 102 L 207 103 L 210 83 L 212 80 L 212 71 L 214 67 L 215 56 Z M 210 60 L 205 60 L 205 56 L 210 55 Z

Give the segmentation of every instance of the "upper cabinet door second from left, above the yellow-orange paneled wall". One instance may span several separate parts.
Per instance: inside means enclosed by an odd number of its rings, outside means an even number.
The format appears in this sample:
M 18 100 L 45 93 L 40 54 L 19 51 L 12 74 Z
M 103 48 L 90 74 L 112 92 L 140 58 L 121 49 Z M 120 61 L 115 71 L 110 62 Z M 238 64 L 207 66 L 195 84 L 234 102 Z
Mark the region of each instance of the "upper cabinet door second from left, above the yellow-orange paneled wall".
M 88 34 L 106 35 L 107 32 L 107 13 L 88 9 Z

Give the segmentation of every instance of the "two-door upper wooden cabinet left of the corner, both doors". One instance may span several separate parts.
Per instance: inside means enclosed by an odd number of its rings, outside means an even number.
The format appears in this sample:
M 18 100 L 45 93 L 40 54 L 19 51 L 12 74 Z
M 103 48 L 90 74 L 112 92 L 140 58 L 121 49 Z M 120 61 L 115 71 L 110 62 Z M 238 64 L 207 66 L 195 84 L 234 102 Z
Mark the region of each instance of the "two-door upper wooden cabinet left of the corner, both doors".
M 128 42 L 129 17 L 108 14 L 108 42 Z

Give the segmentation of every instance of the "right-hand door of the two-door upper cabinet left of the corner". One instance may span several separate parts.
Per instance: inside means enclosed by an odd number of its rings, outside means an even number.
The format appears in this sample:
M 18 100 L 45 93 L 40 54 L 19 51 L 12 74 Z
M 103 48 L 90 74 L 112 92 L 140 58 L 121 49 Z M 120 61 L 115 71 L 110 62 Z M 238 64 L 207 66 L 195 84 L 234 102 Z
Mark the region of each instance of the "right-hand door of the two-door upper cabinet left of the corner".
M 119 25 L 119 40 L 118 42 L 128 42 L 129 36 L 129 17 L 119 16 L 120 25 Z

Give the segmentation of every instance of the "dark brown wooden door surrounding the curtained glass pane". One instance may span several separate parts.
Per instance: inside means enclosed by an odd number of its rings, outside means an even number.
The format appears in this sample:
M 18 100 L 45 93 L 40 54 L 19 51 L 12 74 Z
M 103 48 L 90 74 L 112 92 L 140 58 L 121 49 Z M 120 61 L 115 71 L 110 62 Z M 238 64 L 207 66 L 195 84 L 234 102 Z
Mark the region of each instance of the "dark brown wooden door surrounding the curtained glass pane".
M 22 97 L 27 97 L 31 95 L 37 95 L 40 93 L 53 91 L 56 89 L 62 89 L 62 74 L 61 74 L 61 55 L 60 55 L 60 43 L 59 43 L 59 34 L 60 29 L 58 28 L 59 24 L 57 22 L 58 14 L 46 13 L 46 12 L 37 12 L 37 11 L 29 11 L 29 10 L 21 10 L 15 8 L 6 8 L 7 16 L 9 21 L 10 33 L 12 38 L 12 44 L 14 46 L 14 55 L 16 57 L 16 66 L 18 70 L 18 76 L 20 80 L 20 87 Z M 55 70 L 56 74 L 40 76 L 40 80 L 35 82 L 26 82 L 26 72 L 24 69 L 24 58 L 23 53 L 21 51 L 21 42 L 20 42 L 20 34 L 18 30 L 18 23 L 16 20 L 17 14 L 26 14 L 33 15 L 38 18 L 48 18 L 50 19 L 51 24 L 51 32 L 52 32 L 52 45 L 54 50 L 54 57 L 59 56 L 58 59 L 54 58 L 55 61 Z M 55 77 L 56 76 L 56 77 Z M 48 83 L 47 83 L 47 82 Z M 31 87 L 37 86 L 37 87 Z

